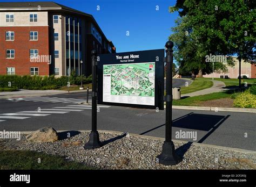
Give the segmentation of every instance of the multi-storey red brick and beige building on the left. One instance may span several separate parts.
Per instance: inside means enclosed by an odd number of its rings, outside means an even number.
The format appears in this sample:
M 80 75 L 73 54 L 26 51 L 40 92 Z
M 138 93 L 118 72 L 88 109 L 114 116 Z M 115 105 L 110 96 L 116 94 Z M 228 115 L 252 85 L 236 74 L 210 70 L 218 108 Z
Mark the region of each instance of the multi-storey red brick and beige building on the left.
M 88 76 L 92 49 L 116 53 L 92 15 L 54 2 L 0 3 L 0 44 L 0 75 Z

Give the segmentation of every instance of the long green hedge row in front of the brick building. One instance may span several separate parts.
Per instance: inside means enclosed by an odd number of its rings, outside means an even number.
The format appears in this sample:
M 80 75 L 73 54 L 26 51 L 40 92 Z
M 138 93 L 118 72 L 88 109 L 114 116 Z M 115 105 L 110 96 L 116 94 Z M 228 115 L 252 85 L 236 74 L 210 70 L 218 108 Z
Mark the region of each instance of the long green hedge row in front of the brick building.
M 68 85 L 81 83 L 81 77 L 72 76 L 62 76 L 55 78 L 52 76 L 18 76 L 18 75 L 0 75 L 0 88 L 18 88 L 18 89 L 29 89 L 29 90 L 46 90 L 46 89 L 56 89 Z M 83 84 L 91 83 L 92 76 L 83 76 Z

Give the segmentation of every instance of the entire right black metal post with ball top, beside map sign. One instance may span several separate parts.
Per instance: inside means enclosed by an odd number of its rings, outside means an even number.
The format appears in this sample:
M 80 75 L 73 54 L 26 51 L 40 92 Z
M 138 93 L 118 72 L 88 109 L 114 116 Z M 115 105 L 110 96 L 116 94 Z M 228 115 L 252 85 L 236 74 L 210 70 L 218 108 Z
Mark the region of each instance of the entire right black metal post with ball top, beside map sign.
M 172 47 L 173 42 L 167 41 L 166 49 L 166 119 L 165 119 L 165 141 L 163 144 L 162 153 L 157 156 L 158 163 L 164 165 L 176 165 L 180 158 L 174 152 L 174 144 L 172 142 Z

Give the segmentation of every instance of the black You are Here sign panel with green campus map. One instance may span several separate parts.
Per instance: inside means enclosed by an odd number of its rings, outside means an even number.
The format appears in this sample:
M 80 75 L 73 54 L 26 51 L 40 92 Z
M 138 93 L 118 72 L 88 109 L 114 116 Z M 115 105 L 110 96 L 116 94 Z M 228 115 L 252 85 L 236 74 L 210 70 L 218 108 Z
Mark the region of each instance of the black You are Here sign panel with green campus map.
M 98 57 L 98 104 L 163 110 L 164 49 Z

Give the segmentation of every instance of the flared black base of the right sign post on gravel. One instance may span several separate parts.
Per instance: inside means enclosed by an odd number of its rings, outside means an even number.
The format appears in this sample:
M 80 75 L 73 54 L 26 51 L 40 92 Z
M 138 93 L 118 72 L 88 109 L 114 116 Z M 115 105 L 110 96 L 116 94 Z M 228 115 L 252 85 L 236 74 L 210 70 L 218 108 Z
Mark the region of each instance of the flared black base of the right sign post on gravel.
M 165 166 L 173 166 L 178 164 L 181 161 L 181 159 L 174 152 L 174 150 L 175 148 L 172 141 L 164 141 L 162 153 L 157 156 L 158 163 L 164 164 Z

